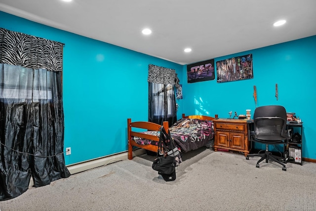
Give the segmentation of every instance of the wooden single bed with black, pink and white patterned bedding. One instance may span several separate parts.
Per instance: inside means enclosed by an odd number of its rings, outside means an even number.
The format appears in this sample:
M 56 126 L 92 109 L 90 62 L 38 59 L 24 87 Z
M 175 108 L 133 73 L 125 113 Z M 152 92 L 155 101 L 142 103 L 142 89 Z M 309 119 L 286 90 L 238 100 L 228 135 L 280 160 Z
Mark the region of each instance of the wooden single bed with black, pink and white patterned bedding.
M 185 116 L 171 127 L 163 122 L 163 127 L 173 137 L 178 149 L 185 153 L 208 146 L 214 140 L 214 118 L 202 115 Z M 133 159 L 133 147 L 157 152 L 161 125 L 150 122 L 132 122 L 127 119 L 128 159 Z

